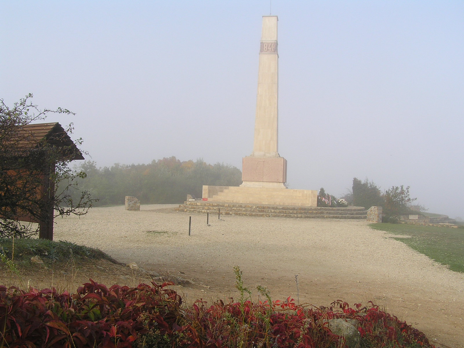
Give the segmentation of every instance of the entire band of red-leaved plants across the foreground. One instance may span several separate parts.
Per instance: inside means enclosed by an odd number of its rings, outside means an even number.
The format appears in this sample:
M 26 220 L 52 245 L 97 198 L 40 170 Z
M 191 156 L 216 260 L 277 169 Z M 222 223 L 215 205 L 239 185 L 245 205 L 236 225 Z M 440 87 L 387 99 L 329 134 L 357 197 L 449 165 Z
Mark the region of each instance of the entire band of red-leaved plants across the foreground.
M 373 303 L 354 309 L 338 300 L 315 308 L 290 297 L 272 303 L 231 298 L 186 307 L 168 285 L 108 289 L 90 280 L 72 295 L 0 286 L 0 347 L 344 347 L 328 327 L 335 318 L 357 320 L 364 347 L 434 347 Z

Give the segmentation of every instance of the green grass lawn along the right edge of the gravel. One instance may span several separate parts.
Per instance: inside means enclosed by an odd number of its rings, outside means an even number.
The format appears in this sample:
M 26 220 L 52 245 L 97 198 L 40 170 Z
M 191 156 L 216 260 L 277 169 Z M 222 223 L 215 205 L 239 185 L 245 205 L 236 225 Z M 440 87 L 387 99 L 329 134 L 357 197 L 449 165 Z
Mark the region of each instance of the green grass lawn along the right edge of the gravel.
M 404 225 L 404 224 L 371 224 L 375 230 L 392 234 L 402 234 L 411 238 L 395 238 L 412 249 L 427 255 L 429 258 L 449 266 L 451 271 L 464 273 L 464 229 Z

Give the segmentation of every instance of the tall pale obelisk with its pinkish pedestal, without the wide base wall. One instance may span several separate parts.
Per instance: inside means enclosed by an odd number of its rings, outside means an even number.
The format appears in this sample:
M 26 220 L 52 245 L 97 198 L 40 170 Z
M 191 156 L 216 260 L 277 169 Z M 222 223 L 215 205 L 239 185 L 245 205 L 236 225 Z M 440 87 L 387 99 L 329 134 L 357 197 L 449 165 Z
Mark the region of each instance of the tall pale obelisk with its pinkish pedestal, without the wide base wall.
M 253 152 L 243 158 L 241 187 L 286 188 L 287 161 L 278 145 L 277 16 L 263 16 Z

